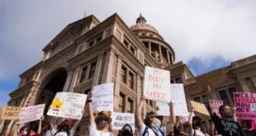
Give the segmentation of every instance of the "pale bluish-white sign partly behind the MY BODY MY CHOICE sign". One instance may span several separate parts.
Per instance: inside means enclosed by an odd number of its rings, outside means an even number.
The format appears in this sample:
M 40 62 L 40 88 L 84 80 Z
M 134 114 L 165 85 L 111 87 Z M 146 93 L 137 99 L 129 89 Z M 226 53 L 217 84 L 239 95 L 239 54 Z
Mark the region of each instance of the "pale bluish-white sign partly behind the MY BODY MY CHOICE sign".
M 171 84 L 171 101 L 173 101 L 175 115 L 187 115 L 187 101 L 182 83 Z

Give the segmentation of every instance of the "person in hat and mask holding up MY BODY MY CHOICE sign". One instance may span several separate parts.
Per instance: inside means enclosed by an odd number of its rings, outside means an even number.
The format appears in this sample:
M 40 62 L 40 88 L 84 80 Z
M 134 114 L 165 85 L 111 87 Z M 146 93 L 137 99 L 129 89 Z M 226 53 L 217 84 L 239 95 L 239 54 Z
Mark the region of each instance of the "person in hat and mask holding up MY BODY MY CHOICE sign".
M 137 107 L 135 111 L 135 124 L 137 128 L 139 129 L 139 136 L 165 136 L 167 134 L 173 134 L 173 127 L 176 122 L 174 110 L 173 110 L 173 102 L 170 101 L 168 104 L 170 106 L 170 122 L 166 124 L 166 126 L 159 129 L 161 125 L 161 121 L 159 120 L 159 117 L 162 117 L 160 115 L 157 115 L 156 112 L 151 111 L 149 112 L 144 122 L 141 119 L 142 115 L 142 108 L 145 104 L 145 96 L 141 96 L 140 98 L 140 104 Z

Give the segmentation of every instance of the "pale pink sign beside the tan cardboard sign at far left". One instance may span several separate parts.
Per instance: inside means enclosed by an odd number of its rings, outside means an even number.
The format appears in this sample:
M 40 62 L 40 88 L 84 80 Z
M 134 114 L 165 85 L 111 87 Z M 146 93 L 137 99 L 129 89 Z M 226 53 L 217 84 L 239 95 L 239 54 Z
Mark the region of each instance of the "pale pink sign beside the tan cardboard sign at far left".
M 37 106 L 21 107 L 20 117 L 19 117 L 20 123 L 40 120 L 40 118 L 44 114 L 44 110 L 45 110 L 45 104 L 41 104 Z

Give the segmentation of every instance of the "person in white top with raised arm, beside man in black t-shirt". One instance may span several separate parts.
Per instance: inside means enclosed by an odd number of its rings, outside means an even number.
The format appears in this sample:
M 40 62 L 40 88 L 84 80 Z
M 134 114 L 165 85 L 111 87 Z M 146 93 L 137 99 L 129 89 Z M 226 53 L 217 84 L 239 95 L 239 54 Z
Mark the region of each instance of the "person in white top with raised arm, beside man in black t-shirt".
M 194 115 L 195 108 L 192 106 L 192 112 L 189 115 L 188 118 L 188 134 L 190 136 L 209 136 L 209 134 L 206 134 L 204 129 L 201 127 L 201 118 L 199 116 Z

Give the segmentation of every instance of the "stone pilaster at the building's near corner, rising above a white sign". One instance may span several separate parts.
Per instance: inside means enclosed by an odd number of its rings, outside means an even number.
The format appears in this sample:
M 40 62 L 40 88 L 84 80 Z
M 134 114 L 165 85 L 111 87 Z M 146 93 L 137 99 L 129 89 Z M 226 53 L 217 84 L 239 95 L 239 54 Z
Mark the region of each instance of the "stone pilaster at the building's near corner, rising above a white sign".
M 112 81 L 112 68 L 113 68 L 113 59 L 114 55 L 112 52 L 107 53 L 106 62 L 104 65 L 102 83 L 107 83 Z

